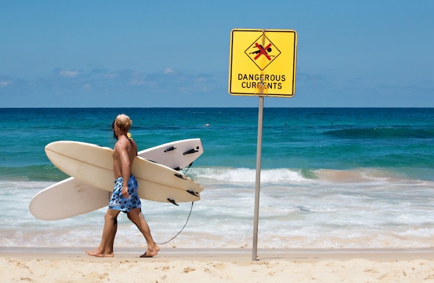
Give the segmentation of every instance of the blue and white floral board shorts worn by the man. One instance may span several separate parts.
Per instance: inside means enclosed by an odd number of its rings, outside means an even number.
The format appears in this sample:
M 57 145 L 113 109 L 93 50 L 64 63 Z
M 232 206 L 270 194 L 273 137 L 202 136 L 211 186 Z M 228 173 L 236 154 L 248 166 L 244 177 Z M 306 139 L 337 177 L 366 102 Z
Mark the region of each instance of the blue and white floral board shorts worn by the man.
M 112 210 L 120 210 L 122 212 L 130 212 L 130 210 L 133 208 L 141 208 L 139 194 L 137 194 L 137 188 L 139 188 L 139 184 L 137 183 L 136 177 L 131 175 L 130 179 L 128 179 L 128 194 L 130 194 L 129 199 L 125 199 L 125 197 L 122 195 L 122 183 L 122 177 L 119 177 L 114 181 L 113 194 L 108 208 Z

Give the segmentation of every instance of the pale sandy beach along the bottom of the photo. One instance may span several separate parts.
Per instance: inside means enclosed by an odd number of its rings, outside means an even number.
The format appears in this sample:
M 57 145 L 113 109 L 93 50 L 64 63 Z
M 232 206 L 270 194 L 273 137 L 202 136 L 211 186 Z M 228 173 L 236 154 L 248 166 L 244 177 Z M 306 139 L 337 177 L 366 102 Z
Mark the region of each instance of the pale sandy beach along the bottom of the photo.
M 0 282 L 434 282 L 433 249 L 84 249 L 0 248 Z

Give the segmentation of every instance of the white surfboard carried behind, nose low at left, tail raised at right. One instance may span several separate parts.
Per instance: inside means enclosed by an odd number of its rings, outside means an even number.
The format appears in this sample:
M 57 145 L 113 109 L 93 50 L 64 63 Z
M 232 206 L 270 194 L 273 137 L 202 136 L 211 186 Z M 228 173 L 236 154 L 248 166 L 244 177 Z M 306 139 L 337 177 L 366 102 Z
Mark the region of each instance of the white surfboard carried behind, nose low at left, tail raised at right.
M 182 169 L 203 153 L 200 138 L 177 140 L 142 150 L 139 156 L 153 162 Z M 71 177 L 51 185 L 33 197 L 29 210 L 42 220 L 75 217 L 108 205 L 110 192 Z

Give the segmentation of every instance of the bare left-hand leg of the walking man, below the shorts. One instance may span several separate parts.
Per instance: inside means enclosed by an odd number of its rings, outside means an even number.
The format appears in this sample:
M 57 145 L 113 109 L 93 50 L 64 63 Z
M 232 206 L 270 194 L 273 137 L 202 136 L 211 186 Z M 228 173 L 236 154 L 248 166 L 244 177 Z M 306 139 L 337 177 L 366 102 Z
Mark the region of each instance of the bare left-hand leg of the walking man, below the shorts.
M 94 250 L 85 250 L 85 253 L 94 257 L 105 256 L 105 249 L 107 248 L 107 245 L 110 246 L 110 243 L 114 242 L 114 235 L 116 234 L 117 228 L 117 216 L 119 212 L 119 210 L 107 209 L 107 212 L 105 212 L 104 216 L 105 221 L 101 243 L 99 244 L 98 248 L 95 248 Z

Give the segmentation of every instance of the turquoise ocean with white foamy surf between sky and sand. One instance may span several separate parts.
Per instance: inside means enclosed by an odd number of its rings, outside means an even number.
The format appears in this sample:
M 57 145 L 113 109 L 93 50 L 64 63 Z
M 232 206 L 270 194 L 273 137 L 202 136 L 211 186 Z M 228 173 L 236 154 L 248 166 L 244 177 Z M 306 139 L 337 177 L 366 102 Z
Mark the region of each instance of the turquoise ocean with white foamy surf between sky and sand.
M 139 149 L 202 140 L 185 172 L 205 188 L 200 201 L 142 200 L 157 243 L 186 224 L 161 248 L 251 248 L 257 108 L 1 109 L 0 248 L 98 246 L 106 208 L 42 221 L 28 204 L 68 177 L 44 146 L 113 147 L 119 113 L 132 118 Z M 263 109 L 258 248 L 433 248 L 433 121 L 432 108 Z M 116 248 L 146 248 L 125 214 Z

